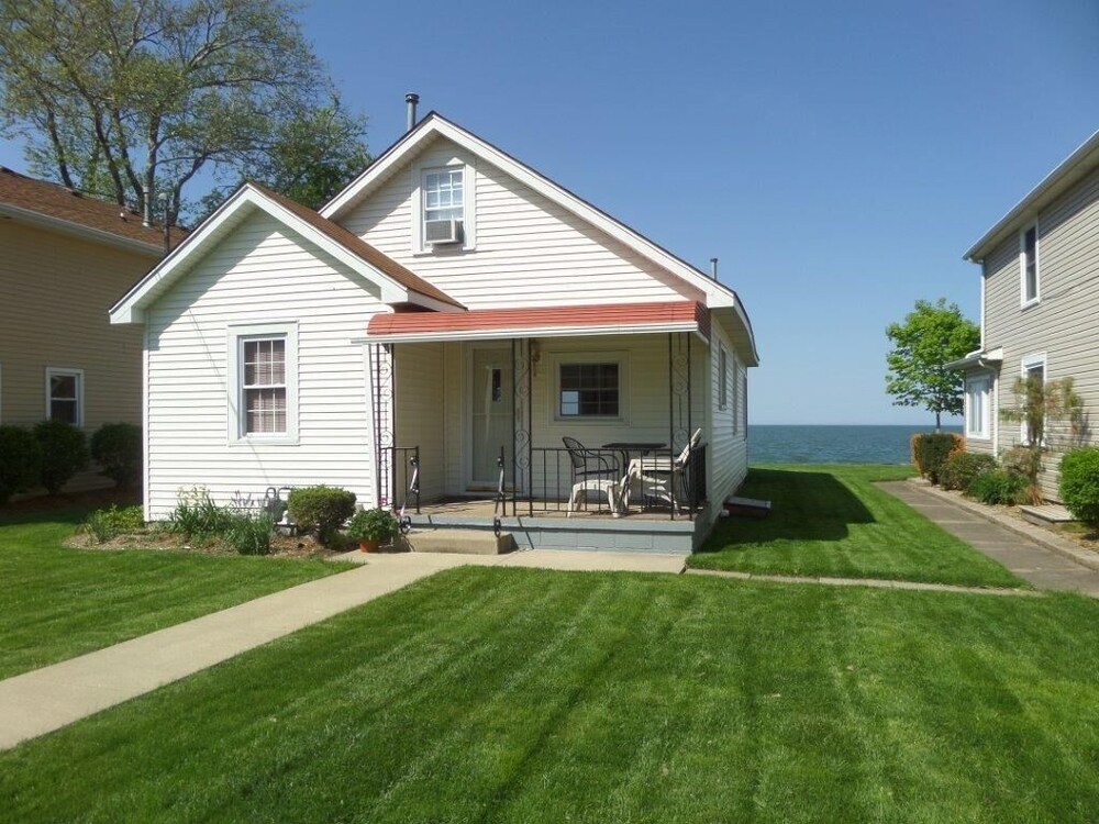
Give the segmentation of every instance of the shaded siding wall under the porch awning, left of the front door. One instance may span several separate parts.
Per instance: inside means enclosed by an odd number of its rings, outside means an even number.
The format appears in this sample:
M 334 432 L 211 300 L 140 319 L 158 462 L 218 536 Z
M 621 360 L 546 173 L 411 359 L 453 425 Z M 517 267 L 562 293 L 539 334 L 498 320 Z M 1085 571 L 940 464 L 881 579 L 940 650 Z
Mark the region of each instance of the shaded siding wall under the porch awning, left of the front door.
M 398 344 L 397 446 L 420 447 L 420 494 L 425 501 L 446 492 L 445 421 L 449 414 L 444 390 L 444 344 Z M 398 460 L 403 458 L 398 455 Z M 395 468 L 402 483 L 404 470 Z M 411 476 L 410 476 L 411 477 Z M 403 492 L 398 491 L 398 500 Z

